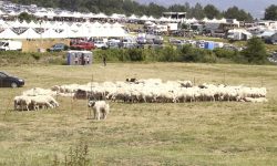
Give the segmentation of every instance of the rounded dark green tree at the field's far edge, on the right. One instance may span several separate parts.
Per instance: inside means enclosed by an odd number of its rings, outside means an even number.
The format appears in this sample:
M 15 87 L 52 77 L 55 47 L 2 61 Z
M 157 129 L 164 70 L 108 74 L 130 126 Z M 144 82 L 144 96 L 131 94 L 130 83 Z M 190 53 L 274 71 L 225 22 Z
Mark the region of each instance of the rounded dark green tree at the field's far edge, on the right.
M 247 48 L 242 51 L 242 55 L 248 63 L 264 64 L 267 62 L 265 43 L 259 38 L 249 39 L 246 46 Z

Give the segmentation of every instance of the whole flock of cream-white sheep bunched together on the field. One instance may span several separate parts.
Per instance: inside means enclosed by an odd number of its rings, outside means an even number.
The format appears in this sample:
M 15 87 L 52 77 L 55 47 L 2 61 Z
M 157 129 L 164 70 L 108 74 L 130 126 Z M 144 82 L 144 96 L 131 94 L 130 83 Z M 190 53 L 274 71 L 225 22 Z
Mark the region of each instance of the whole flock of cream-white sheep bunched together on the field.
M 161 79 L 92 82 L 84 85 L 55 85 L 51 90 L 31 89 L 14 97 L 16 110 L 40 110 L 59 106 L 54 96 L 90 98 L 94 101 L 111 100 L 131 103 L 179 103 L 179 102 L 267 102 L 265 87 L 229 86 L 201 84 L 191 81 L 166 81 Z

